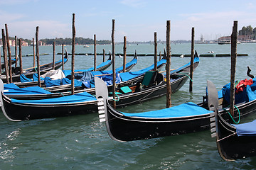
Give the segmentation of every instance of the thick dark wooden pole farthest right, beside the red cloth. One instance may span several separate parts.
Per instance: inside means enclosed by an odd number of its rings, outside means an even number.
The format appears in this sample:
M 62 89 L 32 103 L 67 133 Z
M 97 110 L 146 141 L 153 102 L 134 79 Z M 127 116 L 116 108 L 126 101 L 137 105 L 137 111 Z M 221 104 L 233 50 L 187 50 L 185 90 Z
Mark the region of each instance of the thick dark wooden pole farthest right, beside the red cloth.
M 231 34 L 231 72 L 230 72 L 230 114 L 234 117 L 235 105 L 235 64 L 237 57 L 238 21 L 234 21 Z

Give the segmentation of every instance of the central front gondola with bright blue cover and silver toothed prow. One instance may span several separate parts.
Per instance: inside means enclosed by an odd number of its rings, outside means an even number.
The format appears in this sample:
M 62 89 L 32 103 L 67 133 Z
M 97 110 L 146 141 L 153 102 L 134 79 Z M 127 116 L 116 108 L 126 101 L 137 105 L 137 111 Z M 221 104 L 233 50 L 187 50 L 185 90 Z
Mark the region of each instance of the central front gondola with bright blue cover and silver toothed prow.
M 145 140 L 154 137 L 199 132 L 210 128 L 212 103 L 195 104 L 189 102 L 159 111 L 122 113 L 112 108 L 107 101 L 108 95 L 105 84 L 102 84 L 100 79 L 95 79 L 95 81 L 96 84 L 99 84 L 96 88 L 96 96 L 99 101 L 100 121 L 105 121 L 107 132 L 113 140 L 120 142 Z M 209 99 L 213 94 L 211 89 L 212 87 L 208 84 L 208 101 L 212 101 Z M 226 108 L 226 104 L 220 101 L 222 99 L 214 103 L 214 106 L 223 107 L 220 115 L 224 115 L 229 111 L 229 108 Z M 254 113 L 256 111 L 256 99 L 247 103 L 238 103 L 236 107 L 235 120 L 238 119 L 238 115 L 244 117 Z

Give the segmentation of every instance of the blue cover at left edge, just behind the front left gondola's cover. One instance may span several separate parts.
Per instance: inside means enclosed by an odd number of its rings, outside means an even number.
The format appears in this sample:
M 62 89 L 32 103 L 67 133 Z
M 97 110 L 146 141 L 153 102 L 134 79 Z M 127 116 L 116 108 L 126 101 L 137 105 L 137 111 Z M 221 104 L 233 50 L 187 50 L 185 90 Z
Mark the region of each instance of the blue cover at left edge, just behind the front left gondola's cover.
M 5 95 L 26 95 L 26 94 L 51 94 L 49 91 L 42 89 L 39 86 L 31 86 L 26 88 L 19 88 L 15 84 L 4 84 Z

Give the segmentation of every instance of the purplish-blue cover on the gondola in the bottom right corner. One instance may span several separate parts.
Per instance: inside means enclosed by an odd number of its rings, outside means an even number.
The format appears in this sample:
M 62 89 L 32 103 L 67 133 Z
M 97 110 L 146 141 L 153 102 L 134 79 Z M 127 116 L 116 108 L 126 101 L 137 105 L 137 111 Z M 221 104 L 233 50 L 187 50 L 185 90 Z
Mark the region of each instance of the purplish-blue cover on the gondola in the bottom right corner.
M 233 125 L 233 124 L 232 124 Z M 255 136 L 256 135 L 256 120 L 250 123 L 234 124 L 238 136 Z

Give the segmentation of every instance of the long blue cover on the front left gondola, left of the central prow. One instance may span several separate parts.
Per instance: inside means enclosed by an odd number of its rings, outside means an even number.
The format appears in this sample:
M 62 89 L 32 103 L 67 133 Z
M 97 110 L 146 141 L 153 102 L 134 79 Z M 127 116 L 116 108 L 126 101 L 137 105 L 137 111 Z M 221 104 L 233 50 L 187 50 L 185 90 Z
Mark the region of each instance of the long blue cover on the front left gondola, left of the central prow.
M 80 94 L 74 94 L 70 96 L 63 96 L 59 98 L 47 98 L 41 100 L 18 100 L 11 98 L 12 103 L 33 103 L 33 104 L 68 104 L 68 103 L 80 103 L 85 101 L 96 101 L 96 98 L 87 92 Z

